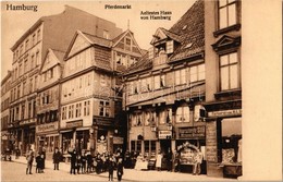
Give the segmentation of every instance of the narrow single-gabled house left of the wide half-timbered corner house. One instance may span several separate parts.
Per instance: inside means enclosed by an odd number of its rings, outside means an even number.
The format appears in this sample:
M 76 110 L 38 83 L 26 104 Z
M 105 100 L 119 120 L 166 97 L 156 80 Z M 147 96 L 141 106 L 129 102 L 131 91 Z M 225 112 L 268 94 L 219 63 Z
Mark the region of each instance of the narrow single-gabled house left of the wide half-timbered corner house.
M 60 147 L 59 110 L 60 110 L 60 78 L 64 52 L 48 49 L 39 70 L 37 89 L 37 123 L 36 149 L 46 151 L 46 158 L 51 159 L 54 147 Z

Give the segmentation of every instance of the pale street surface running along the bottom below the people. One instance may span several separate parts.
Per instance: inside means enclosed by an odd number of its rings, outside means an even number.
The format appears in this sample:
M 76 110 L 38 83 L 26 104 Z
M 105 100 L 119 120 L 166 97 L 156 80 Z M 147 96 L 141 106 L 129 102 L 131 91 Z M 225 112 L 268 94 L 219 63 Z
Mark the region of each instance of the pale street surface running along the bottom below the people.
M 13 159 L 12 162 L 2 161 L 2 181 L 108 181 L 108 172 L 100 174 L 70 174 L 69 163 L 60 163 L 60 170 L 52 170 L 52 162 L 46 161 L 45 173 L 25 174 L 25 159 Z M 114 171 L 114 181 L 116 173 Z M 139 171 L 134 169 L 124 169 L 122 181 L 237 181 L 234 179 L 211 178 L 207 175 L 192 175 L 189 173 L 168 172 L 168 171 Z

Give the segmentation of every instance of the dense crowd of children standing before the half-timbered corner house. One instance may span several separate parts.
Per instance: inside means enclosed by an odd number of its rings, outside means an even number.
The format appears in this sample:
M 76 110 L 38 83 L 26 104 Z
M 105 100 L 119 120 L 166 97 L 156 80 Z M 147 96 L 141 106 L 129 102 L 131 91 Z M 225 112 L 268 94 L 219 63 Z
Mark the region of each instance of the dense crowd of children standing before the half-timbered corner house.
M 109 172 L 109 181 L 113 181 L 114 169 L 116 169 L 118 181 L 123 175 L 123 159 L 120 153 L 110 155 L 109 153 L 96 154 L 95 157 L 90 153 L 77 153 L 76 149 L 69 151 L 71 155 L 71 174 L 79 173 L 101 173 Z

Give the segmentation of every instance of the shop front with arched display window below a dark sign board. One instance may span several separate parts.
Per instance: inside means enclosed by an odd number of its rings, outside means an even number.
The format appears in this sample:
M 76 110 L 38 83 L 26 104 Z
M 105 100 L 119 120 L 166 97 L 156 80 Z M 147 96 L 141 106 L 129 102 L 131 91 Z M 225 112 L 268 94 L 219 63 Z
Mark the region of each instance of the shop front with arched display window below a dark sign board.
M 206 174 L 206 125 L 177 128 L 176 151 L 180 156 L 181 172 L 193 173 L 198 150 L 202 154 L 201 173 Z

